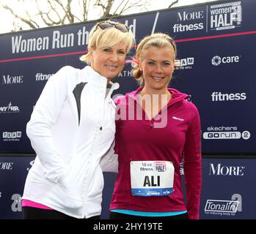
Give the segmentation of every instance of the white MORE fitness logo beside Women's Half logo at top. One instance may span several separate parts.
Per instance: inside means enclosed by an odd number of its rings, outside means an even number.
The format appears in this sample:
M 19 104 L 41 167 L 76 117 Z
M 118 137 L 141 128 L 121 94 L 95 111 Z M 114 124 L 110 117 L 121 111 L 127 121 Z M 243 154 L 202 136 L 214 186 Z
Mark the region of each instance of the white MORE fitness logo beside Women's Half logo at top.
M 201 21 L 204 18 L 204 12 L 203 11 L 197 11 L 197 12 L 178 12 L 177 15 L 177 22 L 172 27 L 173 32 L 183 32 L 183 31 L 197 31 L 204 29 L 204 25 Z M 190 21 L 189 24 L 184 24 L 183 22 Z M 197 21 L 194 23 L 193 21 Z

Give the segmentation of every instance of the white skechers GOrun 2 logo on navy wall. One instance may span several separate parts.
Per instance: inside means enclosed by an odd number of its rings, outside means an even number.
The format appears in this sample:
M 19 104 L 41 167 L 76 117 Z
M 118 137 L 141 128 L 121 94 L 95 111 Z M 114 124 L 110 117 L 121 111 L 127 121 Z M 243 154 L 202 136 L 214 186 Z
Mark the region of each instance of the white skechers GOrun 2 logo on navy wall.
M 238 127 L 208 127 L 207 132 L 202 133 L 205 140 L 248 140 L 251 137 L 249 131 L 238 132 Z

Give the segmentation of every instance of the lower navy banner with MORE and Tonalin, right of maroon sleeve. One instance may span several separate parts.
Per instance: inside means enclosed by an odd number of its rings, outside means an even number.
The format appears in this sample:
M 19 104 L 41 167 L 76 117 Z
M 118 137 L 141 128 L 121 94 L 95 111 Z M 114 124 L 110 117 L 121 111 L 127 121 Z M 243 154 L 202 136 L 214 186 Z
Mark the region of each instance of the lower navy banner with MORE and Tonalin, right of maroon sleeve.
M 202 159 L 200 219 L 255 219 L 255 166 L 256 159 Z

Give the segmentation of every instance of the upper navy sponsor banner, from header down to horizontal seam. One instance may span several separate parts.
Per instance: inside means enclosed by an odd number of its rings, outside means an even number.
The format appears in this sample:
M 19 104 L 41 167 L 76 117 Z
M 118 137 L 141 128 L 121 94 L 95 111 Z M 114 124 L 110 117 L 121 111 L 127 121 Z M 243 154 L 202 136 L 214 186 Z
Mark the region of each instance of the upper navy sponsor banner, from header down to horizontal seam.
M 256 1 L 225 1 L 117 18 L 134 33 L 136 45 L 145 35 L 159 31 L 175 39 L 177 66 L 170 86 L 193 95 L 193 103 L 200 111 L 203 154 L 256 153 L 256 127 L 252 124 L 256 118 L 256 67 L 252 56 L 256 53 L 256 26 L 252 20 L 255 7 Z M 0 74 L 0 129 L 23 132 L 21 146 L 15 140 L 2 140 L 0 152 L 34 152 L 25 133 L 32 107 L 47 80 L 61 67 L 85 66 L 79 56 L 87 53 L 89 31 L 94 24 L 0 36 L 0 63 L 4 64 Z M 131 77 L 132 69 L 128 63 L 114 78 L 120 88 L 113 96 L 138 88 Z M 209 126 L 237 126 L 238 130 L 208 131 Z

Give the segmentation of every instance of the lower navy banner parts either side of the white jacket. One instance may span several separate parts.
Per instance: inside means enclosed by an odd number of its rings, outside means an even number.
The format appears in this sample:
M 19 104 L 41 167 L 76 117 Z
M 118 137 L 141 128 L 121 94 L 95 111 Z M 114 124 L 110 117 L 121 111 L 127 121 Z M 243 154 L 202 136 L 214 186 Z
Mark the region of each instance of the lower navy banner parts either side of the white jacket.
M 27 173 L 34 156 L 0 156 L 0 219 L 23 219 L 21 197 Z M 103 203 L 101 219 L 109 219 L 109 203 L 113 194 L 116 173 L 103 173 Z

